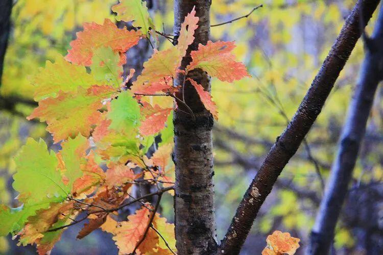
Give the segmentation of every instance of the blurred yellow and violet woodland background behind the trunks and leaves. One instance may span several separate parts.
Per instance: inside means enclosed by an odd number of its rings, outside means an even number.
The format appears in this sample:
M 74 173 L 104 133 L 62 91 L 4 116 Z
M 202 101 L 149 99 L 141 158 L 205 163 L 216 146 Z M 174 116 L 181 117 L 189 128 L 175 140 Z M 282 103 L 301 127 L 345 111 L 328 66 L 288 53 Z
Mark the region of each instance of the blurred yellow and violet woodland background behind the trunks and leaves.
M 173 1 L 147 2 L 157 30 L 172 33 Z M 0 94 L 32 100 L 31 75 L 46 60 L 66 54 L 83 22 L 113 20 L 110 7 L 115 3 L 115 0 L 16 1 Z M 236 41 L 235 55 L 252 75 L 232 85 L 212 80 L 213 99 L 220 112 L 214 129 L 219 240 L 262 159 L 296 111 L 354 1 L 213 0 L 211 24 L 246 15 L 259 4 L 263 7 L 248 18 L 211 28 L 211 40 Z M 375 17 L 367 32 L 371 32 L 374 20 Z M 164 38 L 159 40 L 161 48 L 171 46 Z M 363 45 L 358 42 L 306 143 L 286 166 L 261 208 L 243 254 L 260 251 L 266 236 L 276 229 L 299 237 L 303 248 L 298 254 L 303 254 L 363 56 Z M 334 243 L 338 254 L 365 254 L 365 247 L 372 244 L 383 250 L 382 97 L 380 88 L 338 224 Z M 0 202 L 9 203 L 17 195 L 11 188 L 12 157 L 26 137 L 45 137 L 52 145 L 43 124 L 25 120 L 31 110 L 29 104 L 20 103 L 12 111 L 0 112 Z M 170 220 L 172 207 L 172 197 L 166 197 L 162 213 Z M 75 233 L 80 227 L 67 230 L 53 254 L 68 254 L 70 250 L 77 254 L 116 253 L 110 237 L 100 231 L 76 241 Z M 0 253 L 14 251 L 14 241 L 0 239 Z M 17 251 L 28 254 L 34 249 Z

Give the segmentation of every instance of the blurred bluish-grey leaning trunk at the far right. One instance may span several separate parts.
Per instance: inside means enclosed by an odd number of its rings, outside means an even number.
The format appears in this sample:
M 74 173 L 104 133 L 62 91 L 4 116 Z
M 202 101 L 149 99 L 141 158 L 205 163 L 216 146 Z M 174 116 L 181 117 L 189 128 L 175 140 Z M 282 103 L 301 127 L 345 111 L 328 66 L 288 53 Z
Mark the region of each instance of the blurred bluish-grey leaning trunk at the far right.
M 348 108 L 339 150 L 313 227 L 308 254 L 324 255 L 329 252 L 358 151 L 366 132 L 374 95 L 383 78 L 383 6 L 380 7 L 374 34 L 365 40 L 365 49 L 366 56 L 360 78 Z

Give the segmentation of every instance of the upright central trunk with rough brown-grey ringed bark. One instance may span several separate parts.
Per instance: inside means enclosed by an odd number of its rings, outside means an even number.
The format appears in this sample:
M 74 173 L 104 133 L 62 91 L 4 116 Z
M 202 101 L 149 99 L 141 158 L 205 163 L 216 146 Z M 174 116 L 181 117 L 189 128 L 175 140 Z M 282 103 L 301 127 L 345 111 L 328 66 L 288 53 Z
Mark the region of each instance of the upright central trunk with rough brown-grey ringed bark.
M 195 41 L 189 46 L 182 60 L 184 68 L 191 60 L 190 51 L 197 50 L 198 44 L 209 39 L 210 0 L 174 1 L 174 34 L 178 38 L 184 17 L 196 8 L 200 18 L 195 32 Z M 202 70 L 189 73 L 189 77 L 210 91 L 210 81 Z M 175 84 L 182 85 L 180 75 Z M 195 118 L 183 104 L 177 102 L 179 110 L 174 114 L 173 161 L 176 165 L 175 183 L 175 232 L 178 254 L 213 254 L 217 249 L 216 223 L 214 218 L 212 126 L 213 118 L 202 105 L 192 85 L 184 85 L 184 101 L 192 109 Z M 182 98 L 182 91 L 178 93 Z

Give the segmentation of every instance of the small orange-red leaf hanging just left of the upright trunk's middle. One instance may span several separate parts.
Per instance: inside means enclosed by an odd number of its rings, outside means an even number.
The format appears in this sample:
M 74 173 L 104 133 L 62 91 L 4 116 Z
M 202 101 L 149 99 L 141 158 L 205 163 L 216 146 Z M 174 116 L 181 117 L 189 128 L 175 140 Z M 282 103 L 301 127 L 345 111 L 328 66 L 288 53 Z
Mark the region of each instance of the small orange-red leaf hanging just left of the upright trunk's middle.
M 141 108 L 141 116 L 143 120 L 139 127 L 139 132 L 142 136 L 154 135 L 160 132 L 165 127 L 165 122 L 172 108 L 162 109 L 158 105 L 152 107 L 144 102 Z

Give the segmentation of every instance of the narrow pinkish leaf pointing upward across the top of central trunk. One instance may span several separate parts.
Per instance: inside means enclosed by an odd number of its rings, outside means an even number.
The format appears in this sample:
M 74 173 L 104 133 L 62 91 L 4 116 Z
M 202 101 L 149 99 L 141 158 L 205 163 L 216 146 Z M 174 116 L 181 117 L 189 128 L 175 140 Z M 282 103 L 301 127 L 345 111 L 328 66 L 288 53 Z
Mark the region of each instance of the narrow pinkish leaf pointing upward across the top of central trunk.
M 181 24 L 180 36 L 178 37 L 177 47 L 181 52 L 181 56 L 185 56 L 187 47 L 193 43 L 194 31 L 198 28 L 199 17 L 196 17 L 196 7 L 193 7 L 193 10 L 187 14 L 185 20 Z

